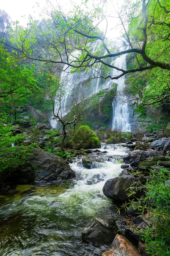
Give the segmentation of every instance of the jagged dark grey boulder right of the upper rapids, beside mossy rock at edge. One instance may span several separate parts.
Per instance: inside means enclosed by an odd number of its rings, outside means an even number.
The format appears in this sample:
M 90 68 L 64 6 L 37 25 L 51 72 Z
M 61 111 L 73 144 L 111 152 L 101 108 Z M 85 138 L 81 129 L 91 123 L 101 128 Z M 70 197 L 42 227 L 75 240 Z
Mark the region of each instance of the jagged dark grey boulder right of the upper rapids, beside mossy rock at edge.
M 134 150 L 131 151 L 127 157 L 124 157 L 124 163 L 130 164 L 133 167 L 138 167 L 140 162 L 146 160 L 147 158 L 152 158 L 158 156 L 156 150 L 148 149 L 148 150 Z

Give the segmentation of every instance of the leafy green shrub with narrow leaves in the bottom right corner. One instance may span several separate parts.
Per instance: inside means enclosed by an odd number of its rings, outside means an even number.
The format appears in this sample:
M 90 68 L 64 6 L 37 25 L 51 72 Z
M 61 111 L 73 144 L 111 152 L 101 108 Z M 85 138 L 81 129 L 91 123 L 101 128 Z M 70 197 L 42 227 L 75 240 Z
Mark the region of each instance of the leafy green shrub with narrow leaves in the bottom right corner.
M 153 229 L 146 230 L 142 236 L 148 243 L 150 255 L 170 254 L 170 184 L 165 181 L 170 179 L 170 171 L 161 169 L 152 171 L 153 179 L 147 183 L 145 202 L 149 201 L 148 209 L 154 220 Z M 152 237 L 154 239 L 152 239 Z

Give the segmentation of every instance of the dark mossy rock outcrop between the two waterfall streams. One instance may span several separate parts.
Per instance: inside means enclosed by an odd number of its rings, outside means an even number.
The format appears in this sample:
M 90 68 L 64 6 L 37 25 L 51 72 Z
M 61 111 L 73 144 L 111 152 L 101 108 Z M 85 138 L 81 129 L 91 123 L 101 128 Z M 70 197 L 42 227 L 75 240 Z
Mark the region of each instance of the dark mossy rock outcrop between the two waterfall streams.
M 97 130 L 111 125 L 116 88 L 117 84 L 114 84 L 113 88 L 101 90 L 84 100 L 85 106 L 91 107 L 82 115 L 83 123 Z

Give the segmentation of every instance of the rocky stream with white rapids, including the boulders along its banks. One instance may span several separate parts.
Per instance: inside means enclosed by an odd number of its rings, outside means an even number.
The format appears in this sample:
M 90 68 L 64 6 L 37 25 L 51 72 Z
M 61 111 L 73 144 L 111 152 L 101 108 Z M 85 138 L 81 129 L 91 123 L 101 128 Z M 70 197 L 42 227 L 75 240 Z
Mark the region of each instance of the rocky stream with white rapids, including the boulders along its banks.
M 119 215 L 116 207 L 137 179 L 132 169 L 154 168 L 158 159 L 170 168 L 170 138 L 152 134 L 148 150 L 134 148 L 135 142 L 102 144 L 69 163 L 34 148 L 32 165 L 1 187 L 0 255 L 147 255 L 136 232 L 150 225 L 147 216 Z

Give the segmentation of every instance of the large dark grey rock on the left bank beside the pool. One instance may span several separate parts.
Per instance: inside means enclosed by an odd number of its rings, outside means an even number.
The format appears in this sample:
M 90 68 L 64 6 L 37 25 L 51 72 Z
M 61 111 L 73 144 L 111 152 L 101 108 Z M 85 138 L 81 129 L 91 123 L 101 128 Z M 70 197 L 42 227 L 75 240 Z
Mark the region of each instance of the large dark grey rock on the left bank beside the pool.
M 32 149 L 33 155 L 28 163 L 21 165 L 6 180 L 13 183 L 60 182 L 75 177 L 75 173 L 60 156 L 39 148 Z

